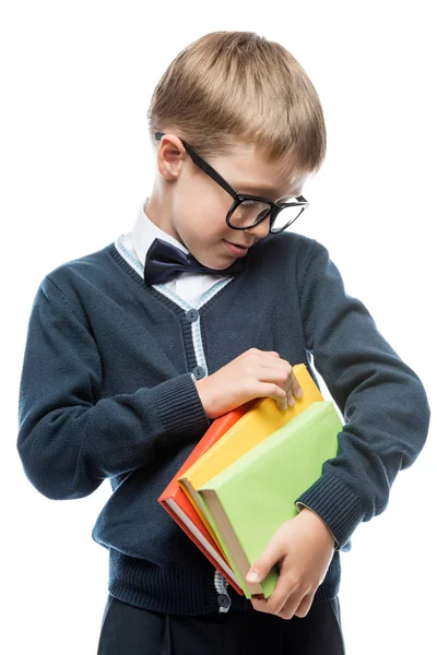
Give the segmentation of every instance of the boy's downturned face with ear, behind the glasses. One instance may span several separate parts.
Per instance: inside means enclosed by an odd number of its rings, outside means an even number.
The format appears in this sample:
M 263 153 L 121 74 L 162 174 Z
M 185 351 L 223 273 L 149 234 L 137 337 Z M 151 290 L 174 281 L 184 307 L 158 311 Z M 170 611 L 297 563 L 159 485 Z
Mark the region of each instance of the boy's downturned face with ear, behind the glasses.
M 299 195 L 309 176 L 297 171 L 293 180 L 281 178 L 277 164 L 247 146 L 228 157 L 210 157 L 208 163 L 237 192 L 277 202 Z M 232 196 L 193 164 L 177 136 L 165 134 L 161 139 L 157 168 L 161 175 L 145 213 L 205 266 L 227 269 L 237 259 L 227 242 L 250 248 L 269 234 L 269 218 L 246 230 L 228 227 Z

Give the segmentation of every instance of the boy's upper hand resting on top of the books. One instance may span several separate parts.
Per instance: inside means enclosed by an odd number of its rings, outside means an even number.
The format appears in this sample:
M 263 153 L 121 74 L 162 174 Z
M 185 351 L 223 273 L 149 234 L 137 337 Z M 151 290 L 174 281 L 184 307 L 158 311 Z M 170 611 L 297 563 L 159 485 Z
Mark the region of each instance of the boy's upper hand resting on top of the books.
M 280 409 L 294 405 L 302 389 L 293 367 L 279 353 L 250 348 L 212 376 L 196 381 L 209 418 L 217 418 L 252 398 L 270 396 Z

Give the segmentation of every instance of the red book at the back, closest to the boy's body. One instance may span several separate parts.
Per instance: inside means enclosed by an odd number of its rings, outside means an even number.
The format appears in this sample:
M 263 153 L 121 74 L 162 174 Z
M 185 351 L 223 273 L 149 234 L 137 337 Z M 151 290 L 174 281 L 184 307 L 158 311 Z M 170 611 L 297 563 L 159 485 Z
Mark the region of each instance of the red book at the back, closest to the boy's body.
M 248 409 L 250 409 L 257 400 L 258 398 L 253 398 L 216 418 L 157 499 L 168 514 L 240 596 L 243 596 L 243 590 L 237 582 L 237 577 L 235 576 L 225 553 L 181 490 L 178 478 L 198 460 L 198 457 L 203 455 L 208 449 L 223 437 L 223 434 L 227 432 L 227 430 L 236 424 Z

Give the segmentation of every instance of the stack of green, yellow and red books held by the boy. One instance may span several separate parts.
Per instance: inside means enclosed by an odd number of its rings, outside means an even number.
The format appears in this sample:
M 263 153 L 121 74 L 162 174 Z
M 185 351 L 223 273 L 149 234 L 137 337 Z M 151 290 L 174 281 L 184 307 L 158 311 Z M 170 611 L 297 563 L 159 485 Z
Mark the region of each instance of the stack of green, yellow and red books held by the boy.
M 279 569 L 260 583 L 245 577 L 294 504 L 335 457 L 342 420 L 304 364 L 293 366 L 303 390 L 282 410 L 255 398 L 216 418 L 158 502 L 240 595 L 268 598 Z

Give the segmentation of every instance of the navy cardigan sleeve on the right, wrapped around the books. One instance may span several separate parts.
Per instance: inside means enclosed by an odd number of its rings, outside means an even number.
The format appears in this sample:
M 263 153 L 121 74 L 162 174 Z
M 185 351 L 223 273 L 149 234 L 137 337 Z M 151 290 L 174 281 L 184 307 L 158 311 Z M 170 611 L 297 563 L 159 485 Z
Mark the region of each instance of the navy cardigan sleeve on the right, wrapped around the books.
M 362 521 L 380 514 L 399 471 L 425 444 L 430 408 L 417 374 L 378 331 L 365 305 L 345 293 L 328 249 L 315 240 L 299 279 L 306 348 L 344 426 L 334 458 L 295 499 L 331 529 L 335 550 Z M 347 548 L 344 548 L 347 550 Z

